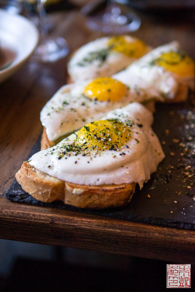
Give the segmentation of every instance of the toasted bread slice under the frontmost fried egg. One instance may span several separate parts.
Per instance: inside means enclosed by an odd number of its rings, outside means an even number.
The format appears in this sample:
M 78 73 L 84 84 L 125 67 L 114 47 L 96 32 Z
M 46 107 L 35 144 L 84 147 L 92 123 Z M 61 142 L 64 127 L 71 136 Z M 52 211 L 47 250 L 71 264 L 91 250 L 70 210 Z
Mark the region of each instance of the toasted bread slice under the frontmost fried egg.
M 79 208 L 108 208 L 127 204 L 136 183 L 121 185 L 78 185 L 43 173 L 25 161 L 15 175 L 22 189 L 42 202 L 60 200 Z

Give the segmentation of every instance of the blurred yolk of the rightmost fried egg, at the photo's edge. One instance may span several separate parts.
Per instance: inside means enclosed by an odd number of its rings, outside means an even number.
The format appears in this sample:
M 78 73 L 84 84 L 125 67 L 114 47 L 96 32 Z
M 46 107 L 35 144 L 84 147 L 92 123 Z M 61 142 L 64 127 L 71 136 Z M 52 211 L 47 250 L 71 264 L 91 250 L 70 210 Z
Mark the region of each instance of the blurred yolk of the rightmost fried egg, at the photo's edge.
M 180 76 L 194 75 L 194 61 L 181 52 L 163 53 L 156 60 L 156 64 Z

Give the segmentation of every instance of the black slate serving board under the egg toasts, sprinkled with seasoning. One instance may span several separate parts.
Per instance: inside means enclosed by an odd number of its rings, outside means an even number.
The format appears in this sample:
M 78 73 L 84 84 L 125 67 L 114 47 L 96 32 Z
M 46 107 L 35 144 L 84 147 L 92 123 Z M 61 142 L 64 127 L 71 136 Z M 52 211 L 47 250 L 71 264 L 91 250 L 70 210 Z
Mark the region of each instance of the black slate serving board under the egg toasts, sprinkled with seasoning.
M 157 104 L 152 127 L 162 143 L 166 158 L 142 190 L 136 187 L 127 206 L 90 210 L 68 206 L 59 201 L 42 203 L 24 192 L 16 180 L 5 197 L 38 206 L 195 230 L 195 109 L 191 102 Z M 29 157 L 39 150 L 40 139 Z

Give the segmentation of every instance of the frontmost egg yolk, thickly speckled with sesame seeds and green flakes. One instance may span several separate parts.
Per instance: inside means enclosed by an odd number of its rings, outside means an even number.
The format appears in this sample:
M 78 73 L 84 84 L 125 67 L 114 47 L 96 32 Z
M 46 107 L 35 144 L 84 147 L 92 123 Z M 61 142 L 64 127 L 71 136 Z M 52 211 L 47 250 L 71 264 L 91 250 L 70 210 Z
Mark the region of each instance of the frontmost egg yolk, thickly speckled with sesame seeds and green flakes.
M 113 150 L 130 139 L 127 125 L 115 120 L 100 120 L 87 124 L 77 133 L 76 142 L 83 147 Z

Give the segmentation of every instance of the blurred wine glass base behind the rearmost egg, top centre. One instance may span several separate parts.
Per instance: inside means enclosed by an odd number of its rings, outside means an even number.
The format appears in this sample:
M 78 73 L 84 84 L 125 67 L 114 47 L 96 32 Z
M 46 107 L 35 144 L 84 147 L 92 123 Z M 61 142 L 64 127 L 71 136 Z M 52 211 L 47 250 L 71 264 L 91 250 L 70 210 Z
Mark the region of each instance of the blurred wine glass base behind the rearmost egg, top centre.
M 122 34 L 136 31 L 141 25 L 141 19 L 124 4 L 128 4 L 128 0 L 108 0 L 103 12 L 93 13 L 86 19 L 87 26 L 104 33 Z M 85 8 L 81 9 L 81 12 L 84 10 Z

